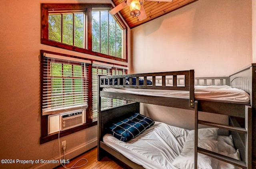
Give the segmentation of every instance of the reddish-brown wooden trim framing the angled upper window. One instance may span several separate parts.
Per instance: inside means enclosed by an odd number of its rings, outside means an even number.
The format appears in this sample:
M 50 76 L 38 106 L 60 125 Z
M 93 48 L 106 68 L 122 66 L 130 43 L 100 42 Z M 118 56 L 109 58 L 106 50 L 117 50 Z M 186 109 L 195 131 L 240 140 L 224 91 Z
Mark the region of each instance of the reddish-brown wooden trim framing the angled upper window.
M 83 49 L 80 47 L 75 47 L 72 45 L 67 45 L 64 43 L 60 43 L 57 41 L 52 41 L 49 40 L 49 36 L 48 36 L 48 11 L 52 10 L 52 9 L 58 9 L 61 8 L 62 10 L 87 10 L 88 12 L 88 35 L 85 35 L 85 37 L 87 38 L 88 41 L 88 49 Z M 41 4 L 41 43 L 45 44 L 45 45 L 50 45 L 50 46 L 54 46 L 54 47 L 59 47 L 62 49 L 67 49 L 67 50 L 71 50 L 71 51 L 77 51 L 80 53 L 86 53 L 86 54 L 90 54 L 90 55 L 94 55 L 94 56 L 98 56 L 98 57 L 104 57 L 107 59 L 113 59 L 116 61 L 122 61 L 122 62 L 128 62 L 128 31 L 127 31 L 127 27 L 126 24 L 124 24 L 124 22 L 122 21 L 121 17 L 116 14 L 116 17 L 118 18 L 119 22 L 122 22 L 122 24 L 124 25 L 125 29 L 125 41 L 124 41 L 124 55 L 125 55 L 125 59 L 122 58 L 118 58 L 118 57 L 113 57 L 110 55 L 105 55 L 102 53 L 98 53 L 98 52 L 94 52 L 92 51 L 92 8 L 113 8 L 113 6 L 111 4 Z

